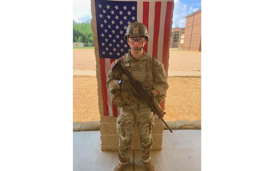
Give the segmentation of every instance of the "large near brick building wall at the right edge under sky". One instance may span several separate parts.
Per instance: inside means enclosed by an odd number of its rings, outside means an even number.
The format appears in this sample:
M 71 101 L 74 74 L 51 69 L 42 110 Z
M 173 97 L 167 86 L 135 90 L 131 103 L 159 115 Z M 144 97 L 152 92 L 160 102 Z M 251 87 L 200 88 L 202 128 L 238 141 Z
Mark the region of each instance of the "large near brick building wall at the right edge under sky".
M 186 16 L 184 51 L 201 51 L 201 9 Z

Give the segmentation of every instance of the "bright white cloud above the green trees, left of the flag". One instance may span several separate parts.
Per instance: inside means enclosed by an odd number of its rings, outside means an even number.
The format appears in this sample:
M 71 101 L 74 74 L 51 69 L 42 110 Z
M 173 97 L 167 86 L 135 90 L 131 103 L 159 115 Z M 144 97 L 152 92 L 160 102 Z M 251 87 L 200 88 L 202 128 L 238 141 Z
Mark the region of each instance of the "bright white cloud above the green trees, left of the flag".
M 84 16 L 90 16 L 90 0 L 73 0 L 73 20 L 76 22 L 86 22 L 83 19 L 87 18 Z M 82 19 L 82 20 L 81 20 Z

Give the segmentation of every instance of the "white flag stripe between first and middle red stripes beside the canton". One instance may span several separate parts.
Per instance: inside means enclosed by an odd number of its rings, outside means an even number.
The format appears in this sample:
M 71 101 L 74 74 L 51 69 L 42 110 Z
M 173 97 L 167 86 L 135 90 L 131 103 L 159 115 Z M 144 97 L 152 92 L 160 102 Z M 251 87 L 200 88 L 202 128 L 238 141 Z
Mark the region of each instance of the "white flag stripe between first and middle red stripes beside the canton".
M 153 50 L 153 33 L 154 33 L 154 13 L 155 13 L 155 2 L 149 2 L 149 11 L 148 11 L 148 54 L 152 56 Z

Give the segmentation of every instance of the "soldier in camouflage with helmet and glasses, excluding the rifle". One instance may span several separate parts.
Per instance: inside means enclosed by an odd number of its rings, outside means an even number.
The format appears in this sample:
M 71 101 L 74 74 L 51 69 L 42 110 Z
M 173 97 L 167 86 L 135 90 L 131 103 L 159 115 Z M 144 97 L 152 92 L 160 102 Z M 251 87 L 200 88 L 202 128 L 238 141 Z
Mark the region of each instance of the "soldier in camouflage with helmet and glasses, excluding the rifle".
M 135 80 L 142 83 L 142 86 L 150 86 L 155 96 L 152 101 L 161 102 L 168 89 L 167 74 L 163 64 L 155 60 L 143 51 L 148 39 L 147 27 L 139 22 L 129 24 L 126 30 L 125 40 L 131 51 L 121 58 L 129 73 Z M 111 70 L 108 73 L 107 87 L 111 90 L 112 100 L 121 112 L 117 118 L 117 132 L 120 135 L 118 158 L 119 163 L 114 171 L 123 170 L 129 163 L 130 143 L 135 123 L 138 126 L 142 160 L 147 170 L 155 170 L 151 163 L 151 131 L 154 128 L 154 116 L 151 109 L 144 101 L 139 101 L 132 91 L 136 91 L 127 81 L 129 78 L 118 70 Z

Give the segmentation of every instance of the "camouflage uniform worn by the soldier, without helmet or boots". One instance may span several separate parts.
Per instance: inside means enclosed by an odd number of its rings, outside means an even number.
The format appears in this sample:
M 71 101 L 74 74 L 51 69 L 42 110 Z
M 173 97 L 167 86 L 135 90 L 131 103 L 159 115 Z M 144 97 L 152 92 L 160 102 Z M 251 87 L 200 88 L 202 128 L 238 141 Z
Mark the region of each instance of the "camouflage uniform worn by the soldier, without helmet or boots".
M 168 89 L 167 74 L 160 61 L 151 60 L 151 57 L 145 52 L 139 61 L 136 61 L 130 52 L 117 60 L 121 60 L 132 77 L 140 81 L 142 86 L 150 86 L 151 89 L 156 89 L 159 92 L 158 97 L 165 95 L 164 93 Z M 154 74 L 150 67 L 151 62 L 154 62 Z M 117 118 L 117 132 L 120 135 L 118 158 L 121 164 L 129 162 L 130 143 L 136 123 L 140 134 L 142 159 L 144 162 L 148 162 L 151 159 L 151 131 L 154 128 L 153 113 L 144 104 L 144 101 L 139 101 L 132 92 L 126 93 L 122 89 L 116 90 L 119 80 L 129 80 L 129 78 L 125 74 L 121 75 L 120 71 L 110 70 L 106 85 L 112 92 L 113 90 L 119 91 L 120 100 L 123 103 Z

